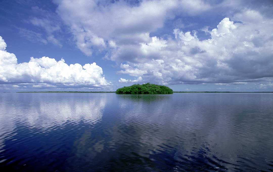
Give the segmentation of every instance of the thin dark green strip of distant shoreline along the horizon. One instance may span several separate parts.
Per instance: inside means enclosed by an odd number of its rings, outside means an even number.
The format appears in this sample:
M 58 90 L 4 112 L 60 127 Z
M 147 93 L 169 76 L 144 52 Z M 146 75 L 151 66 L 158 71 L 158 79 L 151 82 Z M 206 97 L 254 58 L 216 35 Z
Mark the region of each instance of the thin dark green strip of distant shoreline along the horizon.
M 115 91 L 25 91 L 16 93 L 115 93 Z M 174 91 L 173 93 L 273 93 L 273 92 Z

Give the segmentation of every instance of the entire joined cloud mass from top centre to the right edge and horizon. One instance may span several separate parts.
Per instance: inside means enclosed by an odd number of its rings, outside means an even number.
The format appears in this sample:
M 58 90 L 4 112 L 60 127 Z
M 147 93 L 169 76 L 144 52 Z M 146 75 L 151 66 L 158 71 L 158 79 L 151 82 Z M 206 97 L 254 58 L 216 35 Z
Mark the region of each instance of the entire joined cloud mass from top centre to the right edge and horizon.
M 248 8 L 241 8 L 243 1 L 56 3 L 78 48 L 88 56 L 95 49 L 105 50 L 105 59 L 120 64 L 117 74 L 164 85 L 272 81 L 273 20 L 268 13 L 251 9 L 259 6 L 254 1 Z M 218 25 L 211 30 L 209 26 L 186 32 L 174 28 L 173 35 L 150 36 L 177 16 L 213 14 L 222 9 L 228 9 L 229 13 L 221 14 L 230 17 L 215 21 Z M 200 40 L 198 32 L 206 32 L 210 38 Z

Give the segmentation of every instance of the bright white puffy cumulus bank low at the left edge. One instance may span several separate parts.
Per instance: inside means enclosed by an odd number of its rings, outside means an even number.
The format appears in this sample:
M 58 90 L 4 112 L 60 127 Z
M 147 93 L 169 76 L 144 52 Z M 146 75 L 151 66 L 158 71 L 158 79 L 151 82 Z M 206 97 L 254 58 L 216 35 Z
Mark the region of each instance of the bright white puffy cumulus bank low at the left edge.
M 92 64 L 66 64 L 64 59 L 31 57 L 29 62 L 17 63 L 13 53 L 7 52 L 6 43 L 0 36 L 0 82 L 2 83 L 37 83 L 32 87 L 109 86 L 103 76 L 102 68 Z M 16 86 L 17 87 L 17 86 Z

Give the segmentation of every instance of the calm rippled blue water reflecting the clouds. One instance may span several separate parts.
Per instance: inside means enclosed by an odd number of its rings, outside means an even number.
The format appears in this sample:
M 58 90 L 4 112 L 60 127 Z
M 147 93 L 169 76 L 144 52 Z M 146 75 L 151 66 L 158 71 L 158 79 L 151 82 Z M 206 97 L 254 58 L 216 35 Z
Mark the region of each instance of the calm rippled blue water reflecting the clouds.
M 273 171 L 272 93 L 0 93 L 1 171 Z

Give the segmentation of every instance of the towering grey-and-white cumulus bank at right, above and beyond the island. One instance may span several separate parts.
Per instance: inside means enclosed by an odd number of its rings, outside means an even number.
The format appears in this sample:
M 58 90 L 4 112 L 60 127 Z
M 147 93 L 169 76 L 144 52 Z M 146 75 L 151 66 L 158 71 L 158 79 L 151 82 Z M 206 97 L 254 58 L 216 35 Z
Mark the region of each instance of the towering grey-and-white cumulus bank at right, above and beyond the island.
M 272 80 L 273 20 L 253 10 L 233 18 L 240 22 L 222 19 L 209 31 L 210 39 L 200 41 L 196 31 L 174 29 L 175 39 L 153 37 L 140 43 L 138 54 L 126 59 L 129 66 L 118 73 L 162 84 Z

